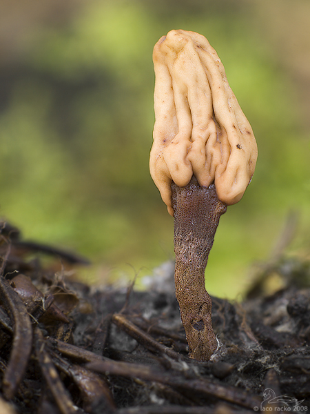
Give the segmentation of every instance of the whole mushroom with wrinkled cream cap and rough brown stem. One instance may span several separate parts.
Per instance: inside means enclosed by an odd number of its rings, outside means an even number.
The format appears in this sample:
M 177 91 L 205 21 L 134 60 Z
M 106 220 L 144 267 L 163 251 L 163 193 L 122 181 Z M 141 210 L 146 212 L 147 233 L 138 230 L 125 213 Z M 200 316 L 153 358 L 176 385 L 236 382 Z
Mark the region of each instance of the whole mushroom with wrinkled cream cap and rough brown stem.
M 220 215 L 254 174 L 253 131 L 214 48 L 201 34 L 172 30 L 154 47 L 154 142 L 149 167 L 174 216 L 176 298 L 189 356 L 216 349 L 205 267 Z

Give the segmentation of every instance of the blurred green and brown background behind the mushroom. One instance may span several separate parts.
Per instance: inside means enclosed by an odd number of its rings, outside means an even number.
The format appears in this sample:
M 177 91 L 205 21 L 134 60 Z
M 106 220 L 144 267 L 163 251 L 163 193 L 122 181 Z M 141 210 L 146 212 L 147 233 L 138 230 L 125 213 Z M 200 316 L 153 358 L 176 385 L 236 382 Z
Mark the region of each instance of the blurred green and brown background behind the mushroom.
M 149 177 L 152 48 L 205 35 L 258 141 L 256 173 L 221 218 L 209 293 L 236 297 L 287 217 L 310 246 L 309 0 L 1 0 L 0 214 L 26 239 L 76 250 L 83 277 L 138 279 L 173 259 L 173 219 Z

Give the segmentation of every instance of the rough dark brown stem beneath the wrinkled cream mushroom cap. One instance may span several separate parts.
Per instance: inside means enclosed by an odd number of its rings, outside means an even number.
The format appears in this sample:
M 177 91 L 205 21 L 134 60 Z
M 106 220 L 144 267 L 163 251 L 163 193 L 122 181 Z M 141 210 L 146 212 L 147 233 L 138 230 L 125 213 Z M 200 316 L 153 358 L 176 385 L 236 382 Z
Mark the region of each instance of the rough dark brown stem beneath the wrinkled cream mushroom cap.
M 189 356 L 207 361 L 216 350 L 211 324 L 211 298 L 205 290 L 205 268 L 220 216 L 227 210 L 214 184 L 201 187 L 193 176 L 189 184 L 172 183 L 174 208 L 174 280 L 176 299 L 189 345 Z

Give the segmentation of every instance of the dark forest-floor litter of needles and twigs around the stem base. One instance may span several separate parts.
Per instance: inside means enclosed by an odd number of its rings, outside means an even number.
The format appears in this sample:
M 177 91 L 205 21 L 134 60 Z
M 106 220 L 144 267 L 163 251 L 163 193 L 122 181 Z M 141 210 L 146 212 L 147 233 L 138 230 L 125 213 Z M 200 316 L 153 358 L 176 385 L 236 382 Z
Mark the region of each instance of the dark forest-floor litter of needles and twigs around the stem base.
M 188 357 L 167 275 L 141 292 L 66 272 L 85 259 L 0 224 L 0 412 L 235 414 L 310 408 L 310 264 L 282 257 L 242 304 L 212 297 L 218 349 Z M 34 257 L 34 253 L 36 257 Z M 43 266 L 40 254 L 54 257 Z M 56 266 L 59 266 L 58 270 Z M 169 266 L 167 267 L 169 269 Z M 286 286 L 265 295 L 268 274 Z

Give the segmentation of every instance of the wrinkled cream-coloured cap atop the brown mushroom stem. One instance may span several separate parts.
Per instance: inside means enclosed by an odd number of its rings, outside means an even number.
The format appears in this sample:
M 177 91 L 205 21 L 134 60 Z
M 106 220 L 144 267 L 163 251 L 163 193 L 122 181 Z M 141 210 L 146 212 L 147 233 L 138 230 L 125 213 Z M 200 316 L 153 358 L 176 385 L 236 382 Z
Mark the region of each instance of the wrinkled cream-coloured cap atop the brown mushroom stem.
M 149 167 L 173 215 L 171 183 L 213 181 L 218 198 L 235 204 L 257 159 L 253 131 L 229 87 L 214 48 L 201 34 L 172 30 L 154 47 L 154 143 Z

